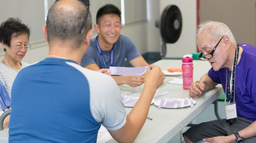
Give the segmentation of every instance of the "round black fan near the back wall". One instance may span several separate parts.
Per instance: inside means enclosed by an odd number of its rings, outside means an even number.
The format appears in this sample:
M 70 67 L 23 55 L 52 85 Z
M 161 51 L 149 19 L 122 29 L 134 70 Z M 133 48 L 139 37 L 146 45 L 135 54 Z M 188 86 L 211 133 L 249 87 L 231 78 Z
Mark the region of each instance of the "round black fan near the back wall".
M 166 43 L 175 43 L 181 34 L 182 17 L 176 5 L 168 5 L 162 12 L 161 18 L 155 21 L 162 37 L 162 58 L 166 55 Z

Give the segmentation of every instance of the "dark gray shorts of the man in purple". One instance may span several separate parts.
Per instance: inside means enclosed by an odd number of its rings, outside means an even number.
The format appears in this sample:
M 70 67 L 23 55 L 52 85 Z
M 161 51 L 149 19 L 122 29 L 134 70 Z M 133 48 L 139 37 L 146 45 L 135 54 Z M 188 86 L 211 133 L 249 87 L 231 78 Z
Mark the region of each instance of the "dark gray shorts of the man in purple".
M 183 133 L 183 136 L 185 135 L 192 142 L 196 143 L 203 138 L 231 135 L 234 131 L 240 131 L 251 125 L 251 123 L 253 121 L 241 117 L 236 118 L 235 122 L 231 125 L 226 122 L 226 119 L 203 122 L 188 129 L 188 131 Z M 256 142 L 256 136 L 244 140 L 244 143 L 251 142 Z

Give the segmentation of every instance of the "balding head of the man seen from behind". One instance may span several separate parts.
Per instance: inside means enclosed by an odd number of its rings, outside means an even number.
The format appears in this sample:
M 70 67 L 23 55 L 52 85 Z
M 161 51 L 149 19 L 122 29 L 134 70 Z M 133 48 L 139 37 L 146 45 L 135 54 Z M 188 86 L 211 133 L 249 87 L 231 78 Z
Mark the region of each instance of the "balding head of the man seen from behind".
M 79 47 L 88 32 L 92 29 L 90 11 L 84 29 L 79 34 L 86 17 L 87 7 L 78 0 L 59 0 L 55 2 L 47 14 L 47 37 L 49 44 L 55 41 L 69 43 L 71 47 Z

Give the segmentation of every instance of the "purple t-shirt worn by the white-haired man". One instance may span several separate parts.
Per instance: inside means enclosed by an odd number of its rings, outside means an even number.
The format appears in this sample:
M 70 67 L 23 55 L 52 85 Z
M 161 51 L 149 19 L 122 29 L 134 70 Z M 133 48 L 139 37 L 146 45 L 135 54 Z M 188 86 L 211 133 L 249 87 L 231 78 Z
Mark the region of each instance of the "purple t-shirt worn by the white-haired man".
M 249 44 L 237 43 L 243 48 L 241 59 L 235 71 L 235 102 L 237 116 L 251 121 L 256 120 L 256 48 Z M 211 68 L 209 77 L 222 84 L 226 90 L 227 68 L 214 71 Z M 229 70 L 229 77 L 231 71 Z M 226 91 L 225 91 L 226 92 Z M 227 101 L 229 97 L 227 96 Z

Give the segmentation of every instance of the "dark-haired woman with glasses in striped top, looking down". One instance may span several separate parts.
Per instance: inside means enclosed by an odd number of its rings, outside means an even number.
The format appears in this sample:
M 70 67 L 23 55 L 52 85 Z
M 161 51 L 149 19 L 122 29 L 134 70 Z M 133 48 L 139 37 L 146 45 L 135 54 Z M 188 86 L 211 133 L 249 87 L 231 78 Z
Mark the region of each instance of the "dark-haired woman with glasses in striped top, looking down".
M 28 43 L 30 30 L 27 25 L 21 23 L 18 18 L 8 18 L 1 23 L 0 41 L 5 51 L 0 62 L 0 80 L 11 96 L 12 83 L 21 70 L 28 64 L 21 60 L 31 47 Z

